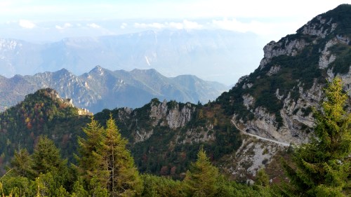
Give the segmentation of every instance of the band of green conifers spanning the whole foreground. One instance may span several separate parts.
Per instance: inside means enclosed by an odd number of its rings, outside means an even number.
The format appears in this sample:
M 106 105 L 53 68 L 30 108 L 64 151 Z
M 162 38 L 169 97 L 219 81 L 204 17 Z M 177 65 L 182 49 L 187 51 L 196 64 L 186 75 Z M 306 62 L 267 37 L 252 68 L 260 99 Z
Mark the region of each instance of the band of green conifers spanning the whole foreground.
M 140 173 L 127 149 L 128 140 L 110 114 L 104 125 L 90 116 L 77 139 L 73 163 L 62 158 L 45 135 L 32 152 L 16 149 L 0 177 L 0 192 L 2 196 L 348 196 L 351 115 L 341 83 L 338 78 L 329 83 L 321 110 L 312 109 L 315 137 L 289 149 L 291 160 L 282 159 L 288 179 L 280 183 L 270 183 L 265 169 L 258 171 L 251 185 L 230 180 L 201 146 L 183 179 Z

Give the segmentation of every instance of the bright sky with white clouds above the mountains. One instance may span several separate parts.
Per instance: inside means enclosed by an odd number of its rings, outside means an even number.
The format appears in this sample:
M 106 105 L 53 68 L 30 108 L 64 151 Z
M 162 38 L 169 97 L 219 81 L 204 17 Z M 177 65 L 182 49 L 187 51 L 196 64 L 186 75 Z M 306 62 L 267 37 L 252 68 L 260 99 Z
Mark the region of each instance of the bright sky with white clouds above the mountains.
M 45 43 L 147 29 L 226 29 L 256 34 L 254 50 L 262 50 L 340 4 L 351 0 L 0 0 L 0 38 Z

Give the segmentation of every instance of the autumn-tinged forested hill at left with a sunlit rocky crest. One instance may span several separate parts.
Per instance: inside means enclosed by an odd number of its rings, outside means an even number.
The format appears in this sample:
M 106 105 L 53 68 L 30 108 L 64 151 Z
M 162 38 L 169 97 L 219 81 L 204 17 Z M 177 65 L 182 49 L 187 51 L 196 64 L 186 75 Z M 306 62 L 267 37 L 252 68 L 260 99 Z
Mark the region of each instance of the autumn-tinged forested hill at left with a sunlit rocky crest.
M 38 90 L 25 100 L 0 114 L 0 168 L 8 164 L 15 150 L 32 153 L 39 136 L 50 137 L 72 161 L 77 149 L 77 135 L 88 121 L 87 111 L 73 107 L 51 89 Z

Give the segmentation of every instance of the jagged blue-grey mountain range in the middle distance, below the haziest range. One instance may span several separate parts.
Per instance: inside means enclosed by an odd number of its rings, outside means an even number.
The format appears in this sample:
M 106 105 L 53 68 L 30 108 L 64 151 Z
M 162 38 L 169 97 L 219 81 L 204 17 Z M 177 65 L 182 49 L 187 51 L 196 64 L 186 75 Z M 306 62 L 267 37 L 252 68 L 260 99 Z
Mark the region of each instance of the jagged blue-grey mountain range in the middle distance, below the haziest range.
M 168 78 L 155 69 L 110 71 L 95 67 L 76 76 L 67 69 L 44 72 L 34 76 L 0 76 L 0 110 L 4 111 L 41 88 L 53 88 L 61 97 L 72 98 L 74 105 L 98 112 L 116 107 L 142 107 L 153 98 L 178 102 L 208 102 L 229 89 L 192 75 Z

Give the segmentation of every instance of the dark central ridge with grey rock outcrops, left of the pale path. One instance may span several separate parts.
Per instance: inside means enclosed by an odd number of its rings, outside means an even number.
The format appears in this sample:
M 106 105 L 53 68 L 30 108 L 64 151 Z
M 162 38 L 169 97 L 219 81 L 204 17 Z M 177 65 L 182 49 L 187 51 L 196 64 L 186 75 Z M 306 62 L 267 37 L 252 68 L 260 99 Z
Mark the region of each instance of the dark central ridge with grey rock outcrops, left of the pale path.
M 211 103 L 202 106 L 154 99 L 134 110 L 105 109 L 95 118 L 104 124 L 110 114 L 128 138 L 141 172 L 182 178 L 201 145 L 213 161 L 241 145 L 230 116 L 224 116 L 223 109 Z

